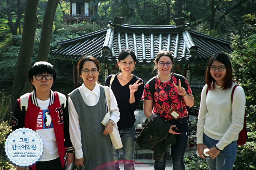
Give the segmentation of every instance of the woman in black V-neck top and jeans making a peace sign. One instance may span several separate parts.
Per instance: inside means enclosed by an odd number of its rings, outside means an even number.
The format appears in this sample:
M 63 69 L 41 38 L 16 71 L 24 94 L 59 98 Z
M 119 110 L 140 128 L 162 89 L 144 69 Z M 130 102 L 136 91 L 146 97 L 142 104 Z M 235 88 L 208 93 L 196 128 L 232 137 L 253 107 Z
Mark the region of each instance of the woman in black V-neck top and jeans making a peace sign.
M 132 74 L 135 67 L 136 56 L 131 50 L 123 50 L 118 56 L 118 66 L 121 73 L 110 75 L 106 79 L 105 86 L 109 86 L 117 100 L 120 120 L 117 122 L 118 130 L 123 144 L 124 169 L 134 169 L 134 138 L 135 138 L 135 115 L 142 97 L 144 82 Z M 112 76 L 115 76 L 110 83 Z M 113 149 L 116 170 L 119 170 L 119 151 Z

